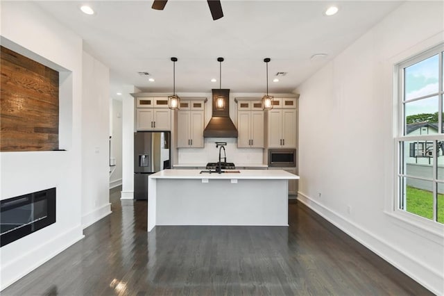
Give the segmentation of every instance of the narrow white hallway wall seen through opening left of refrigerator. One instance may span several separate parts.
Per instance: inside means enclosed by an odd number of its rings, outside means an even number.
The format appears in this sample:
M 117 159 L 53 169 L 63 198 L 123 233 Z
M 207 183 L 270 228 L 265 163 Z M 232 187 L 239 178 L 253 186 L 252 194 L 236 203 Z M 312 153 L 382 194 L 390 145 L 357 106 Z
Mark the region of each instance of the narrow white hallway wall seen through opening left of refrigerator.
M 116 166 L 110 176 L 110 188 L 122 183 L 122 101 L 112 99 L 110 111 L 111 122 L 111 158 L 115 159 Z

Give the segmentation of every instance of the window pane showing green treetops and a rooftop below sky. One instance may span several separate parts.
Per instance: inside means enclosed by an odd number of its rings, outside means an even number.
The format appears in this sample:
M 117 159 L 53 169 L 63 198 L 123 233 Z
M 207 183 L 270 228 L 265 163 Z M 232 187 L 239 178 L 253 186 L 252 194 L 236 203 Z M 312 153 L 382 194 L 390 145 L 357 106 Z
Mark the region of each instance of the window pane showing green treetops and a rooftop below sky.
M 438 97 L 405 103 L 404 122 L 404 135 L 438 133 Z M 420 129 L 422 127 L 427 129 Z

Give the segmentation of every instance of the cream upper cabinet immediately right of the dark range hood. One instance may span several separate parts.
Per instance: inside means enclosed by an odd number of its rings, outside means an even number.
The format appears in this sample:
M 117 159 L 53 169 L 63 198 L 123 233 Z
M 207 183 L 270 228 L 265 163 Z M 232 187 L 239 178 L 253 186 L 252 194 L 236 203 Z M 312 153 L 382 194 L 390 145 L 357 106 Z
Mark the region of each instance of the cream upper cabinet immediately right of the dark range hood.
M 237 147 L 264 148 L 264 111 L 257 99 L 236 98 Z

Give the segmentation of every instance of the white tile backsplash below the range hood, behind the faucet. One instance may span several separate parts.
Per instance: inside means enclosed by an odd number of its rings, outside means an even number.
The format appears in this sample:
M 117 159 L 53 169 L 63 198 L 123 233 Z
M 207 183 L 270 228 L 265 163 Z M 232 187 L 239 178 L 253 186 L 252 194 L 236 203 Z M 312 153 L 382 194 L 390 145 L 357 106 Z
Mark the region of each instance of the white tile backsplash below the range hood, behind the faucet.
M 219 148 L 216 148 L 216 142 L 227 142 L 225 152 L 229 163 L 235 165 L 262 164 L 264 149 L 237 148 L 237 138 L 205 138 L 204 140 L 204 148 L 178 149 L 178 164 L 205 165 L 206 163 L 219 161 Z

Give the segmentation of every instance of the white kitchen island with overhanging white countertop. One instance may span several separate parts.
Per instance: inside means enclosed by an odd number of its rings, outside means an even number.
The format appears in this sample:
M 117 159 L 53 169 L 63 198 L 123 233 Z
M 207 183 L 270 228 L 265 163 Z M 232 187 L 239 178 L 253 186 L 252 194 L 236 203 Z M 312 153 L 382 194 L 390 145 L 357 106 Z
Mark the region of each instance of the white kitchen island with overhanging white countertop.
M 148 178 L 148 231 L 156 225 L 288 226 L 284 170 L 163 170 Z

